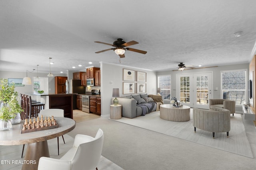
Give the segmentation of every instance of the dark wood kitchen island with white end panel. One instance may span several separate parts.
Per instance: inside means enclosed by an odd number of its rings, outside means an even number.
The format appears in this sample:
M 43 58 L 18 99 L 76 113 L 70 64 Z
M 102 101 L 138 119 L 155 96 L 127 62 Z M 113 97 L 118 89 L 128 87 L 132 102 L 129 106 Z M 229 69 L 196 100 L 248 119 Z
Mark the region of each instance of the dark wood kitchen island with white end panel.
M 45 104 L 45 109 L 63 109 L 64 117 L 73 119 L 74 94 L 27 94 Z

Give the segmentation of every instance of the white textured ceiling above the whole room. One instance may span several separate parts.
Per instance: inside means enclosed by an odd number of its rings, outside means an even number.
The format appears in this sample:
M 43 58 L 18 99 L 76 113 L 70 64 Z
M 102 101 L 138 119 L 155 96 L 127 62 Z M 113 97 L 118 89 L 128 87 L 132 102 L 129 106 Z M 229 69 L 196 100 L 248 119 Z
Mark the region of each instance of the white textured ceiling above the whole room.
M 150 70 L 249 63 L 256 41 L 255 0 L 1 0 L 0 70 L 52 73 L 100 66 Z M 243 31 L 242 36 L 234 33 Z M 119 61 L 117 38 L 137 41 Z M 91 61 L 93 64 L 88 64 Z M 82 66 L 79 67 L 78 64 Z M 76 66 L 76 68 L 72 68 Z

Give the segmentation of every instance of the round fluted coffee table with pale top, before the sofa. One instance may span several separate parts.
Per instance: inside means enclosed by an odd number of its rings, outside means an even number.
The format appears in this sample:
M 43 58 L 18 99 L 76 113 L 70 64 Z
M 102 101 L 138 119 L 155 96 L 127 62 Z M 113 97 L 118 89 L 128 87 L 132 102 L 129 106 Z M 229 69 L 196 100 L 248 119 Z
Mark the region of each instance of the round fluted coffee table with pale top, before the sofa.
M 189 121 L 190 107 L 174 107 L 171 104 L 160 105 L 160 118 L 168 121 Z

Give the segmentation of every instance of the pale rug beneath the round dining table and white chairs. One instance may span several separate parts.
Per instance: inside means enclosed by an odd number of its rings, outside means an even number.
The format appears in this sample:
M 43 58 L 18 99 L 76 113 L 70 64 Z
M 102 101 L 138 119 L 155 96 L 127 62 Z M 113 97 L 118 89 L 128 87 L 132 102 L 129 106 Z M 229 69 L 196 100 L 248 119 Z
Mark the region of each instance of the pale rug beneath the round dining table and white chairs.
M 70 137 L 69 135 L 64 135 L 64 140 L 66 144 L 63 143 L 62 137 L 59 138 L 60 155 L 58 155 L 57 138 L 48 140 L 51 158 L 61 158 L 73 146 L 74 138 Z M 2 161 L 0 164 L 0 170 L 21 170 L 22 164 L 8 164 L 7 162 L 8 160 L 10 160 L 10 162 L 12 162 L 12 160 L 15 160 L 16 162 L 19 160 L 24 160 L 24 155 L 23 158 L 21 158 L 21 152 L 22 145 L 0 146 L 0 160 Z M 24 152 L 26 152 L 26 145 Z M 123 168 L 114 164 L 104 156 L 101 156 L 97 167 L 99 170 L 123 170 Z

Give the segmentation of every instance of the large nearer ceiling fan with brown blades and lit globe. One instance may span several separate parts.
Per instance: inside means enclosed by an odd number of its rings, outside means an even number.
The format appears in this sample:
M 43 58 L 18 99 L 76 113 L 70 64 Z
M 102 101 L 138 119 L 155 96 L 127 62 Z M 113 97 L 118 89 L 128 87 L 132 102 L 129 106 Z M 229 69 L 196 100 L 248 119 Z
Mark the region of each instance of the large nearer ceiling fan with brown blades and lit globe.
M 141 54 L 146 54 L 147 53 L 147 51 L 142 51 L 142 50 L 138 50 L 138 49 L 124 48 L 124 47 L 128 47 L 130 45 L 138 44 L 138 42 L 136 42 L 136 41 L 129 41 L 128 43 L 126 43 L 123 39 L 118 38 L 116 41 L 114 41 L 113 44 L 102 43 L 100 41 L 94 41 L 94 42 L 95 43 L 100 43 L 100 44 L 105 44 L 105 45 L 111 45 L 112 47 L 116 47 L 116 48 L 112 48 L 112 49 L 106 49 L 106 50 L 98 51 L 98 52 L 95 52 L 95 53 L 102 53 L 102 52 L 105 52 L 105 51 L 114 50 L 115 53 L 117 55 L 119 55 L 120 58 L 125 57 L 124 53 L 125 53 L 126 50 L 133 51 L 133 52 L 136 52 L 136 53 L 141 53 Z

